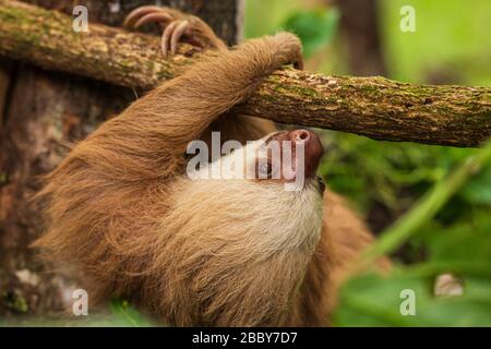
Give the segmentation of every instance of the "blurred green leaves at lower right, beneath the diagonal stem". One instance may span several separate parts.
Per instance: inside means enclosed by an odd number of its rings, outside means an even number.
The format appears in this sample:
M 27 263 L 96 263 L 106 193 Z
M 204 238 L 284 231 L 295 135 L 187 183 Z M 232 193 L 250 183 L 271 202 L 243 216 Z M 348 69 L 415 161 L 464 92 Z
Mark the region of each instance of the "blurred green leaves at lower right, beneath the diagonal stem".
M 339 326 L 491 326 L 490 215 L 457 224 L 444 233 L 426 231 L 424 263 L 398 266 L 387 276 L 364 274 L 344 285 L 335 324 Z M 434 297 L 435 275 L 452 272 L 464 294 Z M 416 313 L 400 313 L 400 292 L 415 291 Z

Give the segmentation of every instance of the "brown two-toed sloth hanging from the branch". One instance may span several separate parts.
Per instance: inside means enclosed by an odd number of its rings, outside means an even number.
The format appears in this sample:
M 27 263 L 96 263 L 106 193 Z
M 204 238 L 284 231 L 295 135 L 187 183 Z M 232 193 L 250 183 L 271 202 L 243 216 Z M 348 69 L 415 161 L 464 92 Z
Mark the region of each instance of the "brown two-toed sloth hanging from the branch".
M 40 192 L 47 231 L 35 245 L 75 267 L 92 302 L 125 298 L 166 324 L 330 324 L 335 280 L 371 234 L 318 180 L 314 133 L 230 112 L 274 70 L 301 64 L 298 38 L 279 33 L 228 50 L 201 20 L 154 7 L 127 24 L 152 21 L 165 27 L 165 52 L 184 39 L 213 55 L 72 148 Z M 302 188 L 285 190 L 288 179 L 267 176 L 267 166 L 256 167 L 264 179 L 189 178 L 187 146 L 212 131 L 261 140 L 250 148 L 302 144 Z M 247 157 L 246 168 L 258 160 Z

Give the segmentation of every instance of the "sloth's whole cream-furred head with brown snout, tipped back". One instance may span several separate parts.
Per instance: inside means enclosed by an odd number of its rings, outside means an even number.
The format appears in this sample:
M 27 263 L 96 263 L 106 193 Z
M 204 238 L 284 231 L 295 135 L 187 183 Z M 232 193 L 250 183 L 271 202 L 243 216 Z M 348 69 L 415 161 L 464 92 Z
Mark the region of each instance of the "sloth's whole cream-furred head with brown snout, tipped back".
M 195 229 L 196 236 L 213 231 L 235 237 L 228 241 L 242 248 L 250 243 L 267 254 L 312 251 L 322 226 L 324 190 L 315 174 L 323 155 L 318 135 L 307 130 L 275 132 L 225 153 L 192 172 L 192 180 L 184 177 L 166 224 L 185 219 L 182 230 L 188 233 Z

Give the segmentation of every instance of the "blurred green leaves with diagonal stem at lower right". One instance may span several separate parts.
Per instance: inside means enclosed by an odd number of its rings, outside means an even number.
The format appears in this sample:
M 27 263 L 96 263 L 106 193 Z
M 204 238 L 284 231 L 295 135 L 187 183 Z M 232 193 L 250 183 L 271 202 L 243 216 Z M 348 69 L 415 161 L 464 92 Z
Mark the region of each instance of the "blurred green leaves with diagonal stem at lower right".
M 370 273 L 348 280 L 339 291 L 334 313 L 336 325 L 491 326 L 490 212 L 472 214 L 470 219 L 452 227 L 431 220 L 442 204 L 490 157 L 491 143 L 439 182 L 402 224 L 385 233 L 384 240 L 379 239 L 379 249 L 371 251 L 390 253 L 416 234 L 415 240 L 428 249 L 428 262 L 395 267 L 386 276 Z M 368 260 L 373 260 L 380 253 L 370 255 Z M 462 280 L 464 293 L 434 297 L 435 278 L 447 273 Z M 404 315 L 400 311 L 406 301 L 402 298 L 403 290 L 415 294 L 414 315 Z

